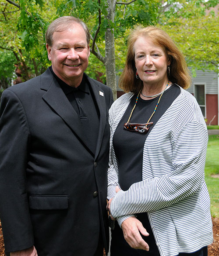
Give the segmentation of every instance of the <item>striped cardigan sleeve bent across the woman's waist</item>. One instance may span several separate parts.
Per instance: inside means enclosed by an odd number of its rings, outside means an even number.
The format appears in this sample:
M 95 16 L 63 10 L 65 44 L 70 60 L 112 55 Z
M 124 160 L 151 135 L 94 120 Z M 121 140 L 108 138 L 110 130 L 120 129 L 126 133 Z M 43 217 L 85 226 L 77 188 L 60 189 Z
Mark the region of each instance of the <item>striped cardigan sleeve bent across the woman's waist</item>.
M 198 121 L 189 122 L 180 128 L 171 143 L 170 172 L 134 183 L 127 191 L 117 193 L 111 203 L 113 217 L 166 208 L 201 189 L 208 143 L 205 125 Z

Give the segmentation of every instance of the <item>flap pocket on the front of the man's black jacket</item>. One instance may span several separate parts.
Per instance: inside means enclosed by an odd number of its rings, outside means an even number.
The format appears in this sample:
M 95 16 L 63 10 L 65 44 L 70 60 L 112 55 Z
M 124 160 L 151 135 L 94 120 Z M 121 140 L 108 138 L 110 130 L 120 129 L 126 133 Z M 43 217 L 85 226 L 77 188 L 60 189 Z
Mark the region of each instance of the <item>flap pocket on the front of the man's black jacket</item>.
M 67 195 L 30 195 L 29 208 L 35 210 L 61 210 L 68 208 Z

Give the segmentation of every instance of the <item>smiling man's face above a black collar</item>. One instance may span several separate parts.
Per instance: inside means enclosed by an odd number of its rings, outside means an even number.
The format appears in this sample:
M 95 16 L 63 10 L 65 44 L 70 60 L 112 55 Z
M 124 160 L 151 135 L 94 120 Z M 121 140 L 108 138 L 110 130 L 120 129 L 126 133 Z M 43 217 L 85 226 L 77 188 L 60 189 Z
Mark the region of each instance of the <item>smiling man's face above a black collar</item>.
M 53 46 L 46 44 L 53 72 L 70 86 L 78 87 L 88 67 L 90 48 L 85 30 L 78 23 L 63 32 L 53 33 Z

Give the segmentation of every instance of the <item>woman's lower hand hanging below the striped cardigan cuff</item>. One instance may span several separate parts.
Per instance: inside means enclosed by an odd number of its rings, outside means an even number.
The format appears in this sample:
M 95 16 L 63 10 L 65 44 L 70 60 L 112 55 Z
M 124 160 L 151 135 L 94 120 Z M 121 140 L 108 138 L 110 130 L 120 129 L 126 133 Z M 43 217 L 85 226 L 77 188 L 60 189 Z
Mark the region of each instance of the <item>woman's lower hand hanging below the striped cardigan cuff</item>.
M 128 219 L 124 220 L 121 227 L 123 229 L 125 240 L 132 248 L 149 251 L 148 244 L 141 237 L 141 234 L 143 236 L 148 236 L 149 234 L 147 230 L 143 227 L 141 221 L 139 221 L 134 216 L 129 217 Z

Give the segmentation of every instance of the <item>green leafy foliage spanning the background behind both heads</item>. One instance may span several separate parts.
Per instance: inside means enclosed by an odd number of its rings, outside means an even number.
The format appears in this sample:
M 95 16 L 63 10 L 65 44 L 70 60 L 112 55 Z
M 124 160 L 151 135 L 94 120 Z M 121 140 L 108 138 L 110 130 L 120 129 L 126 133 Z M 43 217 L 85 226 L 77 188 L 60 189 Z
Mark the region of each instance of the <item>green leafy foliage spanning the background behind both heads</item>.
M 108 18 L 109 5 L 115 0 L 0 0 L 0 85 L 7 88 L 42 73 L 49 65 L 44 34 L 49 23 L 63 15 L 74 15 L 88 25 L 95 38 L 95 51 L 105 58 L 105 33 L 113 31 L 115 72 L 120 74 L 126 55 L 127 35 L 134 25 L 159 26 L 175 40 L 187 64 L 196 69 L 218 71 L 219 0 L 123 0 L 117 1 L 114 19 Z M 99 18 L 101 23 L 99 23 Z M 92 44 L 92 42 L 91 42 Z M 95 55 L 90 56 L 86 71 L 101 76 L 106 83 L 106 68 Z

